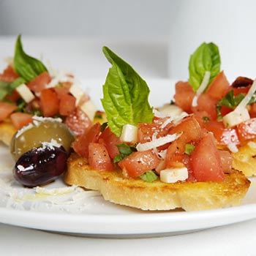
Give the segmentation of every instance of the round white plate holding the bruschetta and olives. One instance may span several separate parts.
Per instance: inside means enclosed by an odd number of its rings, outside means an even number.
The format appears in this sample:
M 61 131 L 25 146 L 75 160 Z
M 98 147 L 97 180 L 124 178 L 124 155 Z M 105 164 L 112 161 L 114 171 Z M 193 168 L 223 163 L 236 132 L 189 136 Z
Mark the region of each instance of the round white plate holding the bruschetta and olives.
M 148 84 L 152 105 L 170 101 L 173 83 L 152 80 Z M 99 106 L 102 81 L 87 80 L 83 85 Z M 13 162 L 7 147 L 0 145 L 0 156 L 0 222 L 4 224 L 78 236 L 134 238 L 189 233 L 256 217 L 255 178 L 251 179 L 241 206 L 211 211 L 151 212 L 108 203 L 97 192 L 67 187 L 61 178 L 41 190 L 25 189 L 12 178 Z

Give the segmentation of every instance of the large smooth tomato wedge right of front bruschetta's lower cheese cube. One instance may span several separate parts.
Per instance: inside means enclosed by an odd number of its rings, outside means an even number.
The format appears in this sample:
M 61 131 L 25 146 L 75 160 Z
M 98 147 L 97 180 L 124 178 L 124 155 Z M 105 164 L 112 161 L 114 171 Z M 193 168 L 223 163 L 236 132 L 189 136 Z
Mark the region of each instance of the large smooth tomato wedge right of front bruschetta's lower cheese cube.
M 222 161 L 211 134 L 200 140 L 190 159 L 197 181 L 224 181 Z

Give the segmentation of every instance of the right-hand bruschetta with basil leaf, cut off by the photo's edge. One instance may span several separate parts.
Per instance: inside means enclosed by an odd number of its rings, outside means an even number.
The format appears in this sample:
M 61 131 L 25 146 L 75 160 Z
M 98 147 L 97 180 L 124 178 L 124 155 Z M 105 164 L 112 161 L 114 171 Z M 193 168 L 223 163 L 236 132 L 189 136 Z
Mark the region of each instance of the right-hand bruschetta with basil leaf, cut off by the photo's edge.
M 229 83 L 220 69 L 219 49 L 203 43 L 189 60 L 189 80 L 176 83 L 175 105 L 214 134 L 218 148 L 230 151 L 233 167 L 256 174 L 256 80 Z

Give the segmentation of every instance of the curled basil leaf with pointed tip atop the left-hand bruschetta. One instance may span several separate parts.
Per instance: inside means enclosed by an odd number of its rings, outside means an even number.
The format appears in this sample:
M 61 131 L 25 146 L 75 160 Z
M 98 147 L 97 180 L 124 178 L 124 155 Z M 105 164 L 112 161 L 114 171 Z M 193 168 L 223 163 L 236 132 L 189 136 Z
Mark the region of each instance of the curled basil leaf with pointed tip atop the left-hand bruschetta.
M 38 59 L 27 55 L 23 50 L 20 35 L 17 38 L 15 45 L 15 56 L 13 67 L 15 72 L 29 82 L 37 77 L 42 72 L 47 71 L 44 64 Z

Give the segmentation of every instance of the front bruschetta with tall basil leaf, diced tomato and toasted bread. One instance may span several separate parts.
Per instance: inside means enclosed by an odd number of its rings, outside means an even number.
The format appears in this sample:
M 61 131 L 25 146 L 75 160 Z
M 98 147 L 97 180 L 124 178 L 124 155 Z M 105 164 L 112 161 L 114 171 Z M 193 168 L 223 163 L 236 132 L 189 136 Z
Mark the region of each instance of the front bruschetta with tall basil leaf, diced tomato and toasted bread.
M 104 124 L 72 143 L 64 181 L 99 190 L 106 200 L 143 210 L 186 211 L 236 206 L 250 181 L 195 114 L 154 110 L 148 86 L 104 47 L 112 67 L 103 86 Z

